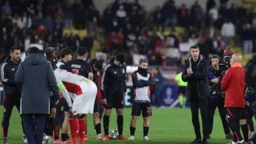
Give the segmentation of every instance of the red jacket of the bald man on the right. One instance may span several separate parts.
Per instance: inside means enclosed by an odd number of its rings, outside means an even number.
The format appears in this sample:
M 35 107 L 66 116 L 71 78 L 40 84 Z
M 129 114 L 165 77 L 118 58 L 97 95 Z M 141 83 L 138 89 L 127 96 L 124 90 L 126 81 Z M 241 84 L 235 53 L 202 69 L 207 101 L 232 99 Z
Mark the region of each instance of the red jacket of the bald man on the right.
M 245 106 L 245 69 L 241 63 L 234 63 L 226 71 L 221 82 L 221 89 L 225 91 L 225 107 Z

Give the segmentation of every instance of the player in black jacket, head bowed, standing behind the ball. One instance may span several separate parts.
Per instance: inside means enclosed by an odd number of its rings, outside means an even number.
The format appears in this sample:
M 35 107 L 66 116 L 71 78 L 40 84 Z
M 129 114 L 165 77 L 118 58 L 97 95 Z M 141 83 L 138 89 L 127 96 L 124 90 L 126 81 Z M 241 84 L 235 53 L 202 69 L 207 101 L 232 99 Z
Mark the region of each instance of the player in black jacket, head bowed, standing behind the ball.
M 117 53 L 114 58 L 110 58 L 104 67 L 100 81 L 102 103 L 104 103 L 105 113 L 103 116 L 103 127 L 105 139 L 109 140 L 108 128 L 110 124 L 110 114 L 112 108 L 116 108 L 117 127 L 119 139 L 126 140 L 123 136 L 123 98 L 126 95 L 126 64 L 125 55 Z

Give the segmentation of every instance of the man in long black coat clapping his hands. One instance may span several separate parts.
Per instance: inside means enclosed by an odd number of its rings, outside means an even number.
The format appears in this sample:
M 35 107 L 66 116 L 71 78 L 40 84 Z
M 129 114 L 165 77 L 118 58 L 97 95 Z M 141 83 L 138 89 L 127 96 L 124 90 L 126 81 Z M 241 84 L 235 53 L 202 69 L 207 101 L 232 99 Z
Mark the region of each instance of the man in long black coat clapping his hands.
M 188 81 L 186 87 L 186 96 L 190 101 L 192 113 L 192 123 L 196 133 L 196 139 L 191 143 L 208 143 L 207 135 L 209 134 L 209 124 L 207 117 L 207 98 L 209 98 L 208 87 L 208 64 L 207 60 L 200 55 L 199 47 L 190 46 L 190 58 L 185 61 L 182 81 Z M 200 132 L 200 122 L 198 117 L 200 109 L 203 123 L 203 141 Z

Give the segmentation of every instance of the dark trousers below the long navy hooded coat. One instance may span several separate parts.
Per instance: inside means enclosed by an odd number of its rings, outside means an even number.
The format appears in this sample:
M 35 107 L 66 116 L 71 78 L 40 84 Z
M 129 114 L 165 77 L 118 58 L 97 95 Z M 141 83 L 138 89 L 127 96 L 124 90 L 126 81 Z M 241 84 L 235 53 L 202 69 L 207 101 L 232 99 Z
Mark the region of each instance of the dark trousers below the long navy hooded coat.
M 43 141 L 43 132 L 45 130 L 45 120 L 49 115 L 43 114 L 25 114 L 22 115 L 24 129 L 27 135 L 29 144 L 41 144 Z M 35 125 L 33 124 L 35 122 Z M 35 135 L 33 130 L 35 126 Z

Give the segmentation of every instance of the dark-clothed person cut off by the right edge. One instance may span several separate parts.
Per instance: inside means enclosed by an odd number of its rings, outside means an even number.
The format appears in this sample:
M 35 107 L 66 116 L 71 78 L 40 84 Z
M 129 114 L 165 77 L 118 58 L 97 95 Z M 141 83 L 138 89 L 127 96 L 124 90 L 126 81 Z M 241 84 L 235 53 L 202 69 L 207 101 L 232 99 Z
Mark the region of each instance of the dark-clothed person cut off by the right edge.
M 255 111 L 255 101 L 256 101 L 256 53 L 252 55 L 252 59 L 247 63 L 245 67 L 245 83 L 246 83 L 246 89 L 245 89 L 245 94 L 246 94 L 246 100 L 248 101 L 247 108 L 248 112 L 253 113 L 254 117 L 256 118 L 256 111 Z M 254 104 L 254 105 L 253 105 Z M 253 128 L 253 120 L 252 120 L 252 115 L 247 117 L 247 123 L 249 124 L 249 128 L 253 129 L 251 131 L 254 131 Z

